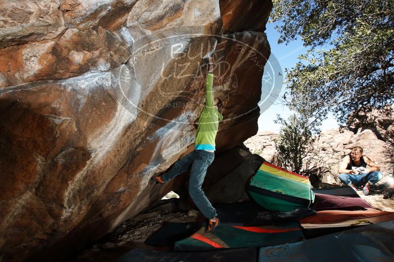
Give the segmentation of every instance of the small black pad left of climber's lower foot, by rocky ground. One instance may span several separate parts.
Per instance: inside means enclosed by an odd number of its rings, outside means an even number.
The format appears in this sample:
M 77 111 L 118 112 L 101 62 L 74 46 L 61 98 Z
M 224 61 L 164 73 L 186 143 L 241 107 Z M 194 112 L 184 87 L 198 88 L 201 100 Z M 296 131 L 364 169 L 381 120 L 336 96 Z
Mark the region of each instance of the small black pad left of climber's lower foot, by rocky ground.
M 164 223 L 152 234 L 145 244 L 152 246 L 173 246 L 175 242 L 195 233 L 201 225 L 198 222 Z

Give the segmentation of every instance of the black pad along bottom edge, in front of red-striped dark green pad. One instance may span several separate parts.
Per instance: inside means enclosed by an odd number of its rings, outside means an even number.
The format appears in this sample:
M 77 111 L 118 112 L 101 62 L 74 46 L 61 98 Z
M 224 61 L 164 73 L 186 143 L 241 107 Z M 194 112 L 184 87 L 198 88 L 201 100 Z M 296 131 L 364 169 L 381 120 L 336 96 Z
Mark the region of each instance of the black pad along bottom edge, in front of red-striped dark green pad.
M 117 262 L 256 262 L 256 248 L 239 248 L 204 252 L 166 252 L 136 248 L 125 253 Z

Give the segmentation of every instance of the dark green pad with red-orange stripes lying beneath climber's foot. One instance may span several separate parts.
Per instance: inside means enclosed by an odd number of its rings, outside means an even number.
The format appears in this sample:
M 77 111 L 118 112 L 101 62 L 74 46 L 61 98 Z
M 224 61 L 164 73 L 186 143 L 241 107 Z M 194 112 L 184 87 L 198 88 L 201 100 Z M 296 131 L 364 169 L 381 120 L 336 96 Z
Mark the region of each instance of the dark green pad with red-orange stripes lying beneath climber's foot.
M 214 232 L 201 228 L 193 235 L 175 243 L 176 251 L 203 251 L 221 248 L 261 247 L 303 239 L 298 222 L 278 226 L 245 227 L 220 224 Z

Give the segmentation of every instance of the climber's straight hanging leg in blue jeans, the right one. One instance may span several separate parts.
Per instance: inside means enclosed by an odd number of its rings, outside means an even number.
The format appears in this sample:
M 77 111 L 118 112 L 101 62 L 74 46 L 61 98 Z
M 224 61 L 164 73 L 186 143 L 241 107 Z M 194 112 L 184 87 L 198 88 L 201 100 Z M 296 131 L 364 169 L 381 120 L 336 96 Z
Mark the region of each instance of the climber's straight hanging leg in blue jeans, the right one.
M 203 185 L 208 166 L 212 163 L 213 158 L 214 153 L 196 150 L 189 179 L 190 197 L 201 213 L 208 219 L 215 218 L 217 214 L 211 202 L 205 196 L 201 186 Z

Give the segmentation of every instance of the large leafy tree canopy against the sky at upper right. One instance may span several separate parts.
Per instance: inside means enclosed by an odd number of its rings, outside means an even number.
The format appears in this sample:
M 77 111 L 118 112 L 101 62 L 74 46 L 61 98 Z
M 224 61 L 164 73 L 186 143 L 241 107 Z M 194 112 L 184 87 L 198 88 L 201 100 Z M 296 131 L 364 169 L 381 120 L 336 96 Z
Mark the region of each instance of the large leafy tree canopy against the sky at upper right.
M 310 49 L 286 69 L 291 109 L 340 124 L 394 102 L 393 0 L 273 0 L 273 21 L 288 43 Z M 328 49 L 318 49 L 328 45 Z M 289 95 L 287 94 L 287 95 Z M 350 114 L 353 113 L 353 114 Z M 349 118 L 350 115 L 350 118 Z

